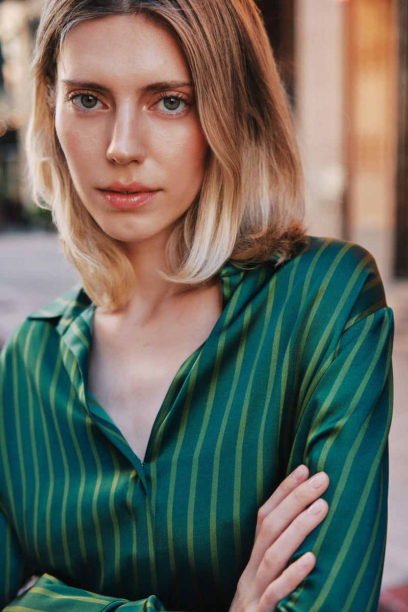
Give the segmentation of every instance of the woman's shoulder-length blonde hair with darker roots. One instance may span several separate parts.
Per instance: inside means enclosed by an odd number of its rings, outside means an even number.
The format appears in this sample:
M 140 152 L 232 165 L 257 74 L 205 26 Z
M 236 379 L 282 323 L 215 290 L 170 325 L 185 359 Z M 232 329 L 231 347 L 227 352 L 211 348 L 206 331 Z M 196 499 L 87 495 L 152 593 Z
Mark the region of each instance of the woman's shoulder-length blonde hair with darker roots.
M 114 310 L 132 293 L 124 245 L 106 236 L 73 187 L 54 129 L 56 63 L 82 21 L 143 13 L 184 51 L 209 145 L 196 201 L 174 226 L 168 261 L 179 283 L 208 281 L 231 259 L 284 261 L 303 240 L 299 152 L 269 39 L 253 0 L 48 0 L 32 74 L 28 160 L 35 201 L 53 211 L 65 254 L 95 304 Z M 46 203 L 46 204 L 45 204 Z

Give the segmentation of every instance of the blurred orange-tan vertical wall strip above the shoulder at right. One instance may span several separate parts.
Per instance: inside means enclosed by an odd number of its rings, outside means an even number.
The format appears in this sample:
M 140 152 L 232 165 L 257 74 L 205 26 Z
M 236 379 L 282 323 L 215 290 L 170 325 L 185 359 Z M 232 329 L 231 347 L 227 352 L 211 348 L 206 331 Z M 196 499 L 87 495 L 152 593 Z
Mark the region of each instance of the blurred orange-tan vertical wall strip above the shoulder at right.
M 393 270 L 398 29 L 392 0 L 346 3 L 347 225 Z

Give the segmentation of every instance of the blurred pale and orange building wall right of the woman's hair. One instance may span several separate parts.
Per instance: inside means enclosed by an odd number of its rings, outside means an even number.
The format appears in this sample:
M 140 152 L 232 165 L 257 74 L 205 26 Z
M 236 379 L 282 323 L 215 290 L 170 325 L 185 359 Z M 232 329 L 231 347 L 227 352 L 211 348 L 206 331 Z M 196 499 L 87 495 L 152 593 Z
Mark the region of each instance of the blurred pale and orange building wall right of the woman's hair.
M 297 127 L 311 233 L 394 272 L 398 25 L 393 0 L 295 0 Z

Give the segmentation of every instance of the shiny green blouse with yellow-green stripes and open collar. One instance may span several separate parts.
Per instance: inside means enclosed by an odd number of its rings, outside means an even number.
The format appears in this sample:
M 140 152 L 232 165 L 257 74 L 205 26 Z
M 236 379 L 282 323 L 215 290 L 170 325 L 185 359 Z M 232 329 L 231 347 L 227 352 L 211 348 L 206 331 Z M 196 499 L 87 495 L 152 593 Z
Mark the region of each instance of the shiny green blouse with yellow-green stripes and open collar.
M 1 608 L 228 611 L 259 506 L 304 462 L 330 476 L 330 511 L 294 555 L 313 550 L 316 568 L 278 610 L 377 609 L 392 315 L 365 250 L 302 249 L 221 269 L 223 312 L 174 378 L 144 463 L 87 392 L 86 294 L 15 330 L 0 362 Z

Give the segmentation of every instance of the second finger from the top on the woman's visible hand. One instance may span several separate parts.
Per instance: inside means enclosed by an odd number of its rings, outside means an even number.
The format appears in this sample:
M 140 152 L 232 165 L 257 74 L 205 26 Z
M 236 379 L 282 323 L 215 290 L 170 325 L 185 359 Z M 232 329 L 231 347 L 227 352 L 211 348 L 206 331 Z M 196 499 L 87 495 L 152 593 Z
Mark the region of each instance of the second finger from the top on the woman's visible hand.
M 258 567 L 265 551 L 283 534 L 295 518 L 299 517 L 306 507 L 324 493 L 328 483 L 328 476 L 325 472 L 315 474 L 306 482 L 298 485 L 281 501 L 279 506 L 264 518 L 251 553 L 251 567 Z

